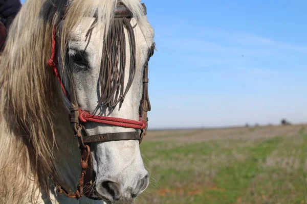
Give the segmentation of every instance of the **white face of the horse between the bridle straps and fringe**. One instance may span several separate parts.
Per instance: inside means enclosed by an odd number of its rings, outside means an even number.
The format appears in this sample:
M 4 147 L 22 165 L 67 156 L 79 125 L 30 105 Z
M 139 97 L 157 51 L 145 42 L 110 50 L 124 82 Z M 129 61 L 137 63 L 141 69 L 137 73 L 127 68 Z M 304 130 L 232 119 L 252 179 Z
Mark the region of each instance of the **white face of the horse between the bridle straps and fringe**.
M 144 64 L 148 59 L 148 41 L 137 25 L 133 29 L 136 43 L 136 72 L 131 87 L 121 105 L 117 104 L 113 108 L 98 106 L 101 98 L 100 75 L 104 71 L 101 63 L 109 59 L 102 59 L 104 42 L 99 27 L 94 27 L 89 40 L 88 31 L 94 21 L 95 19 L 91 17 L 84 18 L 70 32 L 68 40 L 64 64 L 65 69 L 72 73 L 78 105 L 81 110 L 95 115 L 139 120 L 142 76 Z M 135 25 L 136 22 L 131 20 L 131 24 Z M 124 86 L 126 86 L 131 56 L 127 30 L 124 29 L 124 32 L 126 42 Z M 85 123 L 85 127 L 89 135 L 137 131 L 95 122 Z M 91 150 L 98 196 L 107 198 L 110 202 L 116 200 L 132 202 L 147 188 L 149 176 L 144 168 L 138 140 L 95 142 L 91 143 Z

